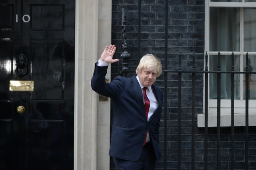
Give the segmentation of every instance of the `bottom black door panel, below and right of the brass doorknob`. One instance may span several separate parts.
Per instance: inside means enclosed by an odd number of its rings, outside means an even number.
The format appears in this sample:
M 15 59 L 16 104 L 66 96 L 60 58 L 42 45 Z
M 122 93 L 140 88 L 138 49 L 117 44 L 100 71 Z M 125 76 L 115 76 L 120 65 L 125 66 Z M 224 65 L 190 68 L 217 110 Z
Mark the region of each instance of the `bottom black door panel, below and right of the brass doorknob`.
M 63 169 L 64 121 L 31 120 L 31 136 L 31 168 Z

